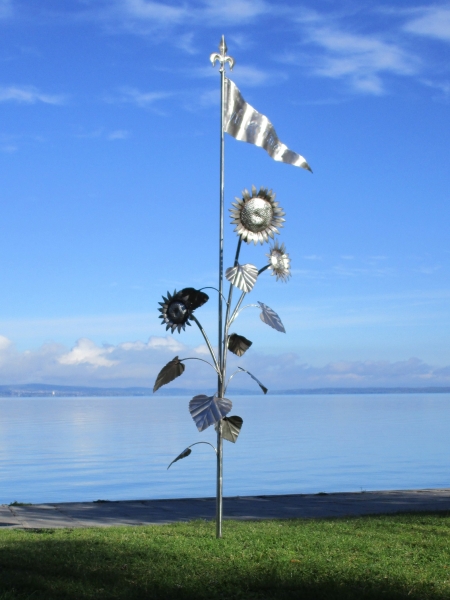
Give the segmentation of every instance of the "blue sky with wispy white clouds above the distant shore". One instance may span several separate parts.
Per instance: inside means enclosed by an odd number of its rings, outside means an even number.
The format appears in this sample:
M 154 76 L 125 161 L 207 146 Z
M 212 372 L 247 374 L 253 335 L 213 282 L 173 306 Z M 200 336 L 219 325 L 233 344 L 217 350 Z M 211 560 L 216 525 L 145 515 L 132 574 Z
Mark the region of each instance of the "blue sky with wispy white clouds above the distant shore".
M 152 385 L 204 353 L 157 308 L 217 285 L 222 34 L 314 171 L 226 139 L 227 208 L 272 188 L 292 261 L 250 296 L 286 335 L 244 311 L 239 364 L 272 389 L 450 383 L 449 3 L 0 0 L 0 30 L 0 383 Z M 225 266 L 235 244 L 227 216 Z M 198 318 L 214 339 L 213 291 Z

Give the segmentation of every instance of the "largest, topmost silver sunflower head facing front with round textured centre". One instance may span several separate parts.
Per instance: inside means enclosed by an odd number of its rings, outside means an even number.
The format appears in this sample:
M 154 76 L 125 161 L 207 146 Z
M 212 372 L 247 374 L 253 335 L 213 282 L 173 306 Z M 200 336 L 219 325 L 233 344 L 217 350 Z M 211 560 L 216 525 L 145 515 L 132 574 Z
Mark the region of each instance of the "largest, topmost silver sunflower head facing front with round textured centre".
M 269 241 L 269 237 L 273 238 L 275 233 L 279 233 L 278 227 L 283 227 L 285 212 L 275 202 L 272 190 L 262 187 L 257 192 L 252 185 L 251 195 L 248 190 L 244 190 L 242 198 L 236 198 L 233 206 L 234 208 L 230 208 L 231 223 L 236 225 L 234 230 L 247 244 L 264 244 Z

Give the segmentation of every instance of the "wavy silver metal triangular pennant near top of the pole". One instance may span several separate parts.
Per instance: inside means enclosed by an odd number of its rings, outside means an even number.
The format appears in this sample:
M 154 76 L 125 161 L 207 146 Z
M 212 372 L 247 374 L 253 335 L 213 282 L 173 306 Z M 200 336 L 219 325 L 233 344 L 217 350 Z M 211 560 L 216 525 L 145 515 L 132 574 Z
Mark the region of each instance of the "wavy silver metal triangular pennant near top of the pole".
M 236 85 L 225 77 L 224 131 L 241 142 L 255 144 L 279 162 L 311 171 L 306 159 L 280 142 L 267 117 L 247 104 Z

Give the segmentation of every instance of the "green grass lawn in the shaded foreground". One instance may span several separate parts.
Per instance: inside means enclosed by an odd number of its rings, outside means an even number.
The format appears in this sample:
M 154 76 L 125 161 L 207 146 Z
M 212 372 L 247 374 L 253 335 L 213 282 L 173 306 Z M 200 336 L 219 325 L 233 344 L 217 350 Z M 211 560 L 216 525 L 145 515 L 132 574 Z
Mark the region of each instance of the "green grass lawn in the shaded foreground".
M 450 512 L 0 531 L 0 600 L 450 598 Z

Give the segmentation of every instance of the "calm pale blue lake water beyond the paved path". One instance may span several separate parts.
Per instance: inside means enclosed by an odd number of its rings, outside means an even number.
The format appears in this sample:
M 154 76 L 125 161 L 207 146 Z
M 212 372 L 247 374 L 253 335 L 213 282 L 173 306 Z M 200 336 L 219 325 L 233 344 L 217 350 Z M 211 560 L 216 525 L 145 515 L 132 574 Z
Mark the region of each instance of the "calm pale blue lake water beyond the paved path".
M 215 495 L 189 397 L 0 399 L 0 503 Z M 224 495 L 450 487 L 450 394 L 232 396 Z

